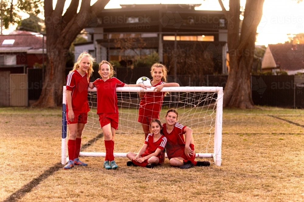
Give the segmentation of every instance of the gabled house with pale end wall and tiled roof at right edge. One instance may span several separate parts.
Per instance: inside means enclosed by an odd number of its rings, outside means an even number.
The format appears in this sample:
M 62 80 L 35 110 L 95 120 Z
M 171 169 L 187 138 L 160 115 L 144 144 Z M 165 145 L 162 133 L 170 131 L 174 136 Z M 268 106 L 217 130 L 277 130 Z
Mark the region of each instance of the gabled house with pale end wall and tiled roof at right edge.
M 304 73 L 304 44 L 269 44 L 262 61 L 262 71 Z

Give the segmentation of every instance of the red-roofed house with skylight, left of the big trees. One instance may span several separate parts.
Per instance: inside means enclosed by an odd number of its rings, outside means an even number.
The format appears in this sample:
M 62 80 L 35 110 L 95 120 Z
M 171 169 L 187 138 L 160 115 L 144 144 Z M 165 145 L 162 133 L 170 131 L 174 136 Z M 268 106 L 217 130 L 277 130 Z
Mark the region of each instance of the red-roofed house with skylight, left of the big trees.
M 14 31 L 9 35 L 0 35 L 0 71 L 26 73 L 26 68 L 42 65 L 43 54 L 46 57 L 43 36 L 39 33 Z

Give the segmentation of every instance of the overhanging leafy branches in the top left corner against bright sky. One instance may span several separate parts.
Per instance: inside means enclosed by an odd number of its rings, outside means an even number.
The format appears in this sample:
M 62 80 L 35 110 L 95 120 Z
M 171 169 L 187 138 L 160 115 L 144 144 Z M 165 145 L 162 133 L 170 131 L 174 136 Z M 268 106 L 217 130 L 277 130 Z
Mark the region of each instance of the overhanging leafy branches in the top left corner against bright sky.
M 43 0 L 17 0 L 16 2 L 2 0 L 1 15 L 5 29 L 9 28 L 10 24 L 20 24 L 20 13 L 37 15 L 41 12 L 42 6 Z

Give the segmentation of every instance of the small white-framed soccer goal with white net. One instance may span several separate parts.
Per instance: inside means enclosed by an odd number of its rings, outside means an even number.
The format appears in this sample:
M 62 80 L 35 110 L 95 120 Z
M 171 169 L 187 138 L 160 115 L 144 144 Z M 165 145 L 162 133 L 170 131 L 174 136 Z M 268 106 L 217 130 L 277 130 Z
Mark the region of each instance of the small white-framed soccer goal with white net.
M 119 108 L 119 126 L 115 134 L 114 156 L 126 157 L 126 153 L 138 152 L 145 138 L 138 119 L 140 98 L 138 92 L 152 92 L 154 87 L 116 88 Z M 168 109 L 176 108 L 178 122 L 193 130 L 196 157 L 210 158 L 215 165 L 221 165 L 223 88 L 222 87 L 167 87 L 160 120 L 165 123 Z M 96 88 L 89 89 L 88 123 L 82 134 L 80 156 L 105 157 L 103 133 L 98 121 Z M 105 106 L 106 107 L 106 106 Z M 63 88 L 61 163 L 67 157 L 66 87 Z M 167 155 L 166 155 L 167 157 Z

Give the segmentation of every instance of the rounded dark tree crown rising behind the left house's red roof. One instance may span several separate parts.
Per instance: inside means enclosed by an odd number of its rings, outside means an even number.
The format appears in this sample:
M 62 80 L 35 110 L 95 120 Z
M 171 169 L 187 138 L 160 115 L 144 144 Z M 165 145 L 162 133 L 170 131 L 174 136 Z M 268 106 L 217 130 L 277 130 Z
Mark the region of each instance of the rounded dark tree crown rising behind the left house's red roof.
M 17 27 L 17 29 L 23 31 L 42 32 L 44 31 L 42 25 L 44 25 L 43 20 L 40 19 L 37 15 L 30 13 L 29 18 L 21 20 L 20 25 Z

